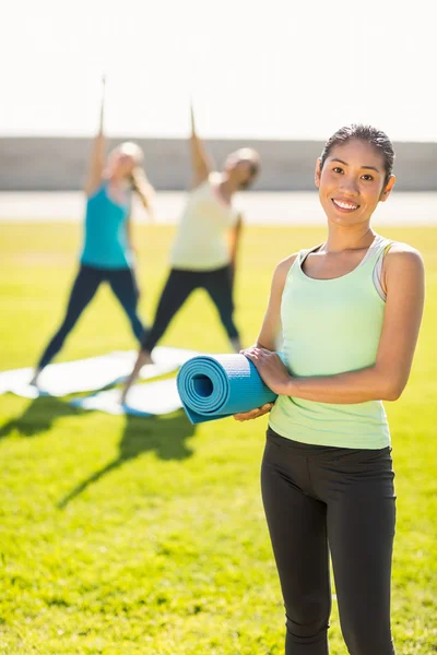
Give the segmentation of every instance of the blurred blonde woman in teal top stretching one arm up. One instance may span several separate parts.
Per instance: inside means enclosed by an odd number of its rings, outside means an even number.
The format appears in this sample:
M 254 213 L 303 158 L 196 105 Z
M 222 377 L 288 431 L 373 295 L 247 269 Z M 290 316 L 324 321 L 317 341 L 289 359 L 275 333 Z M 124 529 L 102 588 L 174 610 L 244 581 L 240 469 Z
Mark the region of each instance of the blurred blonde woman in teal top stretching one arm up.
M 38 361 L 33 384 L 37 384 L 40 371 L 61 349 L 103 282 L 109 283 L 138 341 L 142 343 L 144 337 L 144 326 L 137 312 L 139 293 L 130 242 L 130 191 L 133 189 L 150 211 L 153 189 L 141 168 L 143 153 L 137 144 L 120 144 L 105 163 L 103 117 L 104 98 L 85 187 L 87 200 L 81 265 L 63 321 Z

